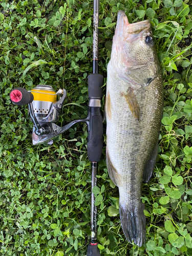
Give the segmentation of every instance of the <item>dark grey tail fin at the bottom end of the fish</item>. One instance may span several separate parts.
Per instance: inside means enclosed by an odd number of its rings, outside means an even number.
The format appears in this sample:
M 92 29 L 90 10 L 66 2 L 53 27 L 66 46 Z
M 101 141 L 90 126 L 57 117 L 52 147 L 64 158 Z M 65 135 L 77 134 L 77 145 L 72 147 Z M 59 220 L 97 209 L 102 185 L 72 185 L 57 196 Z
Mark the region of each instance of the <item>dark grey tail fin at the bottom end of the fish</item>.
M 146 218 L 143 213 L 144 204 L 139 202 L 137 207 L 119 205 L 119 214 L 123 233 L 127 241 L 138 246 L 145 244 L 146 236 Z

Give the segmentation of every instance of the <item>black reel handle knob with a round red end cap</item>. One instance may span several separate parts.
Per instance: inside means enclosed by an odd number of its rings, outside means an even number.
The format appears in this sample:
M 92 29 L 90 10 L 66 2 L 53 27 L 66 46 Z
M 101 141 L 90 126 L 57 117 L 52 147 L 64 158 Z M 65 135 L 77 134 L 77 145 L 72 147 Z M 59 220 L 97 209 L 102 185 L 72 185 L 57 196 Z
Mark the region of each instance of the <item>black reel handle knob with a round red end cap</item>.
M 14 104 L 22 106 L 29 104 L 33 101 L 33 94 L 31 92 L 28 92 L 24 88 L 18 87 L 11 91 L 10 99 Z

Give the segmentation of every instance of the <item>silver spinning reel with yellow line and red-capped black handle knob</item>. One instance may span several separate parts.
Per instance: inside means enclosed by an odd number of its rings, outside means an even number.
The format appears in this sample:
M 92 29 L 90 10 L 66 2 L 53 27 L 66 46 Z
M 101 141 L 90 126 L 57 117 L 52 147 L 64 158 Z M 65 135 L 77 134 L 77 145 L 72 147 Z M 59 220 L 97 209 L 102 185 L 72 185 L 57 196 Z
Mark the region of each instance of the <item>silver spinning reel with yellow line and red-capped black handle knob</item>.
M 33 122 L 32 140 L 33 145 L 48 142 L 53 143 L 53 138 L 68 130 L 74 123 L 87 120 L 75 120 L 70 124 L 59 127 L 59 112 L 66 98 L 66 90 L 59 89 L 58 92 L 45 84 L 39 84 L 31 91 L 24 88 L 16 88 L 10 93 L 11 101 L 17 105 L 28 104 L 29 118 Z M 57 101 L 57 95 L 60 99 Z M 88 125 L 89 126 L 89 125 Z

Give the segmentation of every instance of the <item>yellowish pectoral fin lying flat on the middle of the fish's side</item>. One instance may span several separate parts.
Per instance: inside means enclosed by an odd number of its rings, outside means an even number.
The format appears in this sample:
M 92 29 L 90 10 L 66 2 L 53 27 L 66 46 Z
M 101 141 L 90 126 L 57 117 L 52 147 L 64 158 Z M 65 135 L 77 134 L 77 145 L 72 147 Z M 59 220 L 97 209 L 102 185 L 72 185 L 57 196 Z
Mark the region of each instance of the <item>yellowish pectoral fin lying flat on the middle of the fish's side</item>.
M 137 98 L 132 90 L 131 87 L 126 91 L 125 93 L 122 93 L 122 96 L 125 98 L 126 103 L 129 106 L 129 109 L 136 119 L 140 121 L 140 108 L 139 108 L 139 103 L 137 101 Z

